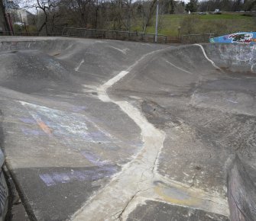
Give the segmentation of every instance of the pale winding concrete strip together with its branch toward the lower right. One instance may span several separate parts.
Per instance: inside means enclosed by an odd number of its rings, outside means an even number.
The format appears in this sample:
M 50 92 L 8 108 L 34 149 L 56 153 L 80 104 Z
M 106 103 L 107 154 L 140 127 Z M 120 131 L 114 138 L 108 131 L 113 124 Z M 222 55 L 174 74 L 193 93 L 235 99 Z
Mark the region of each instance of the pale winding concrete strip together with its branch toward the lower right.
M 156 51 L 153 53 L 157 52 L 160 51 Z M 142 56 L 141 59 L 138 60 L 138 62 L 135 62 L 134 65 L 128 68 L 128 71 L 132 71 L 132 68 L 138 65 L 141 60 L 153 53 Z M 212 62 L 211 60 L 210 62 L 213 66 L 215 66 L 214 62 Z M 107 89 L 112 87 L 112 85 L 117 83 L 121 78 L 125 77 L 125 75 L 128 75 L 128 71 L 120 72 L 114 78 L 110 79 L 104 85 L 100 86 L 98 89 L 99 99 L 104 102 L 113 102 L 115 104 L 118 104 L 118 106 L 126 114 L 128 114 L 128 116 L 131 117 L 132 120 L 134 120 L 138 127 L 141 128 L 141 136 L 144 142 L 144 146 L 142 147 L 141 152 L 139 152 L 138 155 L 134 156 L 134 159 L 127 165 L 125 165 L 118 175 L 115 175 L 115 178 L 110 181 L 107 187 L 103 188 L 102 191 L 100 191 L 95 197 L 92 197 L 92 199 L 89 200 L 89 202 L 86 203 L 86 205 L 76 213 L 73 220 L 85 220 L 86 217 L 91 217 L 90 219 L 95 220 L 125 220 L 128 215 L 123 217 L 123 214 L 129 207 L 131 201 L 134 201 L 138 194 L 140 194 L 141 192 L 145 192 L 147 190 L 147 196 L 154 196 L 147 197 L 147 199 L 157 200 L 161 198 L 160 191 L 158 190 L 157 193 L 156 188 L 158 187 L 156 187 L 154 183 L 163 181 L 163 178 L 161 178 L 161 176 L 157 174 L 157 163 L 160 155 L 160 149 L 163 148 L 163 143 L 165 139 L 164 131 L 157 130 L 157 128 L 155 128 L 151 123 L 147 121 L 141 111 L 138 110 L 138 108 L 133 107 L 132 104 L 129 104 L 127 101 L 112 100 L 107 94 Z M 183 194 L 190 193 L 189 190 L 185 190 L 183 188 L 182 184 L 173 184 L 170 181 L 170 185 L 173 189 L 180 191 Z M 193 191 L 195 191 L 195 193 L 197 192 L 197 194 L 201 192 L 200 190 L 196 189 L 194 189 Z M 118 200 L 116 198 L 116 195 L 122 196 L 122 199 Z M 228 216 L 228 206 L 225 199 L 220 200 L 220 196 L 207 196 L 207 194 L 205 193 L 203 193 L 201 197 L 202 198 L 196 199 L 196 203 L 190 203 L 190 207 L 195 207 Z M 209 200 L 212 198 L 215 198 L 215 200 Z M 174 201 L 175 198 L 172 203 Z M 190 200 L 184 200 L 184 204 L 177 204 L 184 206 L 186 205 L 186 201 Z M 109 202 L 111 202 L 111 205 Z M 109 214 L 112 215 L 109 216 Z

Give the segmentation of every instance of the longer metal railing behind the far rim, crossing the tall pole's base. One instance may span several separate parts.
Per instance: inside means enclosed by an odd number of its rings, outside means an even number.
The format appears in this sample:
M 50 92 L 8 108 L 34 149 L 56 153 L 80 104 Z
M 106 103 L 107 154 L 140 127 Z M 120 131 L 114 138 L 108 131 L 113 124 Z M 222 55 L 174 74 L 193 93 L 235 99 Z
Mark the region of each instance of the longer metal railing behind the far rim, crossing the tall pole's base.
M 111 40 L 134 40 L 154 43 L 155 34 L 144 34 L 122 30 L 98 30 L 87 28 L 64 27 L 62 36 L 102 38 Z M 157 34 L 157 43 L 167 43 L 167 36 Z

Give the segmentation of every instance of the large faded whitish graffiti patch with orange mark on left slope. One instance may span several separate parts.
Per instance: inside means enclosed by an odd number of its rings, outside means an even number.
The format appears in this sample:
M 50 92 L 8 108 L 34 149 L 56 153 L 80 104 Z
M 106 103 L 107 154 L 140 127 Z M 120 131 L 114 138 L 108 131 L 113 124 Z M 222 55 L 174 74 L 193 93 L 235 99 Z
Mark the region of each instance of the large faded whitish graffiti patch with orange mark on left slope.
M 20 118 L 23 123 L 37 124 L 42 132 L 48 136 L 56 136 L 60 139 L 74 138 L 81 142 L 112 143 L 117 142 L 112 135 L 97 127 L 95 120 L 90 120 L 83 114 L 52 109 L 37 104 L 22 102 L 33 118 Z M 79 110 L 85 107 L 79 107 Z M 26 135 L 42 135 L 37 129 L 22 128 Z

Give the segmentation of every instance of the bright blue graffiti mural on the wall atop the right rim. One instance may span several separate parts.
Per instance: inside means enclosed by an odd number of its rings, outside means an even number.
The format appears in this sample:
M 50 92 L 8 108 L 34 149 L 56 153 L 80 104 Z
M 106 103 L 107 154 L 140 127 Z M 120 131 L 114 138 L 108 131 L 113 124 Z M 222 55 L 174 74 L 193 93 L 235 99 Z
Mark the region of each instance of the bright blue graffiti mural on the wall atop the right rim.
M 210 38 L 211 43 L 256 43 L 256 32 L 238 32 Z

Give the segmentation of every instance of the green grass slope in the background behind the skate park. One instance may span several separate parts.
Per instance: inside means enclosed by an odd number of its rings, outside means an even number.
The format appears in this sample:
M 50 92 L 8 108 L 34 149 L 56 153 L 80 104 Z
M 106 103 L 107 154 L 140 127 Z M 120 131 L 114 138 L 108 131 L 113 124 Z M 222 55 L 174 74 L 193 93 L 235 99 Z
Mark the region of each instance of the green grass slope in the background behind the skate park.
M 183 20 L 186 20 L 184 23 Z M 147 33 L 154 34 L 155 18 L 147 27 Z M 256 17 L 243 16 L 238 13 L 227 14 L 164 14 L 159 18 L 159 34 L 177 37 L 180 34 L 214 33 L 231 34 L 238 31 L 256 31 Z M 142 31 L 141 21 L 135 21 L 132 30 Z

